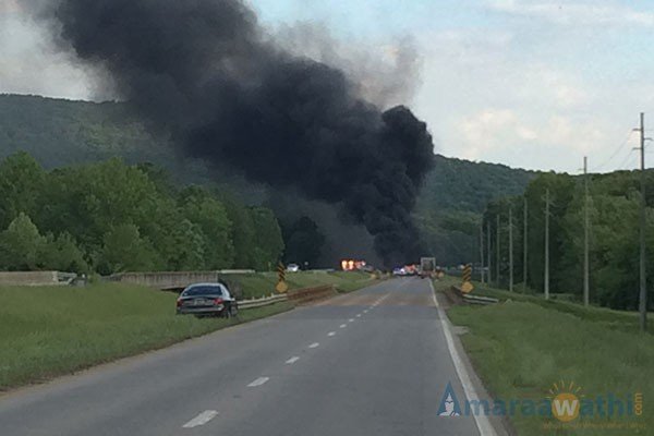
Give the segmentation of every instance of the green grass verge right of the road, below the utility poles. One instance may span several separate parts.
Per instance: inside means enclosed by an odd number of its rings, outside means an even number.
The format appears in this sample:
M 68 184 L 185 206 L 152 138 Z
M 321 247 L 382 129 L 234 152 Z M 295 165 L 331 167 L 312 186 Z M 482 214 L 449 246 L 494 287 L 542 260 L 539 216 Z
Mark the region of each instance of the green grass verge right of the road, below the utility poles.
M 436 282 L 438 290 L 453 280 Z M 494 398 L 543 399 L 553 384 L 574 383 L 578 396 L 633 399 L 642 392 L 641 416 L 594 416 L 562 424 L 554 417 L 510 416 L 524 435 L 618 435 L 654 432 L 654 337 L 638 331 L 634 313 L 545 301 L 477 284 L 479 295 L 496 296 L 488 306 L 455 306 L 448 316 L 469 332 L 462 341 Z M 644 428 L 634 429 L 637 424 Z M 555 427 L 547 427 L 554 424 Z M 610 428 L 609 425 L 617 425 Z M 583 426 L 586 426 L 585 428 Z

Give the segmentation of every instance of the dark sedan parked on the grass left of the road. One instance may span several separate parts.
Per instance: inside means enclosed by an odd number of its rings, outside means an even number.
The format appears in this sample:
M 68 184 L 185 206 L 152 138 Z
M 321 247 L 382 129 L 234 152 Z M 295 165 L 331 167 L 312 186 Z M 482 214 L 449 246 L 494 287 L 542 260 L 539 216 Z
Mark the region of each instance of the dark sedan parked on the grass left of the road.
M 177 300 L 178 315 L 222 316 L 239 313 L 239 303 L 225 283 L 195 283 L 182 291 Z

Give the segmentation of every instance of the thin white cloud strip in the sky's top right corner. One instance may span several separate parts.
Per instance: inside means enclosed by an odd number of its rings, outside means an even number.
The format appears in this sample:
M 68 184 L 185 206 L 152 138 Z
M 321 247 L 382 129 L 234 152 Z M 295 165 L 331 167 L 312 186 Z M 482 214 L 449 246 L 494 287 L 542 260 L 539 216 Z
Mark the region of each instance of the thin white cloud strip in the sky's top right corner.
M 495 0 L 488 3 L 494 11 L 530 19 L 547 20 L 564 25 L 640 25 L 654 26 L 654 13 L 604 1 L 519 1 Z

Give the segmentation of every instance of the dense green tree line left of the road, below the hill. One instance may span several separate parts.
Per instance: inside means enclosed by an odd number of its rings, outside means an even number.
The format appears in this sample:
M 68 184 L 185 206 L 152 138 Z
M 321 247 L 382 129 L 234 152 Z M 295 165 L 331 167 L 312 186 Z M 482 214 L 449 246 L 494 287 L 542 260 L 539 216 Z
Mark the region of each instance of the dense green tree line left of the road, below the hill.
M 26 153 L 0 164 L 0 269 L 267 270 L 281 258 L 269 208 L 120 159 L 46 171 Z

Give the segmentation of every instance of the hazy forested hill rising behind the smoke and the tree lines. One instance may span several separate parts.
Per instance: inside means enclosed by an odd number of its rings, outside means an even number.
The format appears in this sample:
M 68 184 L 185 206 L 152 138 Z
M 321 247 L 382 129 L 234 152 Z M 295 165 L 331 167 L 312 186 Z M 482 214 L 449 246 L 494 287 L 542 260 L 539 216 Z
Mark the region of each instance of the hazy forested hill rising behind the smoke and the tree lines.
M 247 205 L 266 198 L 265 192 L 238 174 L 211 171 L 204 161 L 177 155 L 168 137 L 153 136 L 124 104 L 0 96 L 0 158 L 17 150 L 27 152 L 46 169 L 119 156 L 128 164 L 161 166 L 182 184 L 226 184 Z M 533 177 L 506 166 L 437 155 L 415 210 L 426 254 L 436 255 L 441 264 L 469 262 L 485 204 L 521 193 Z M 287 229 L 293 226 L 286 223 Z M 302 239 L 320 240 L 319 230 L 312 229 Z M 288 234 L 284 230 L 284 237 Z M 307 245 L 296 240 L 291 246 Z

